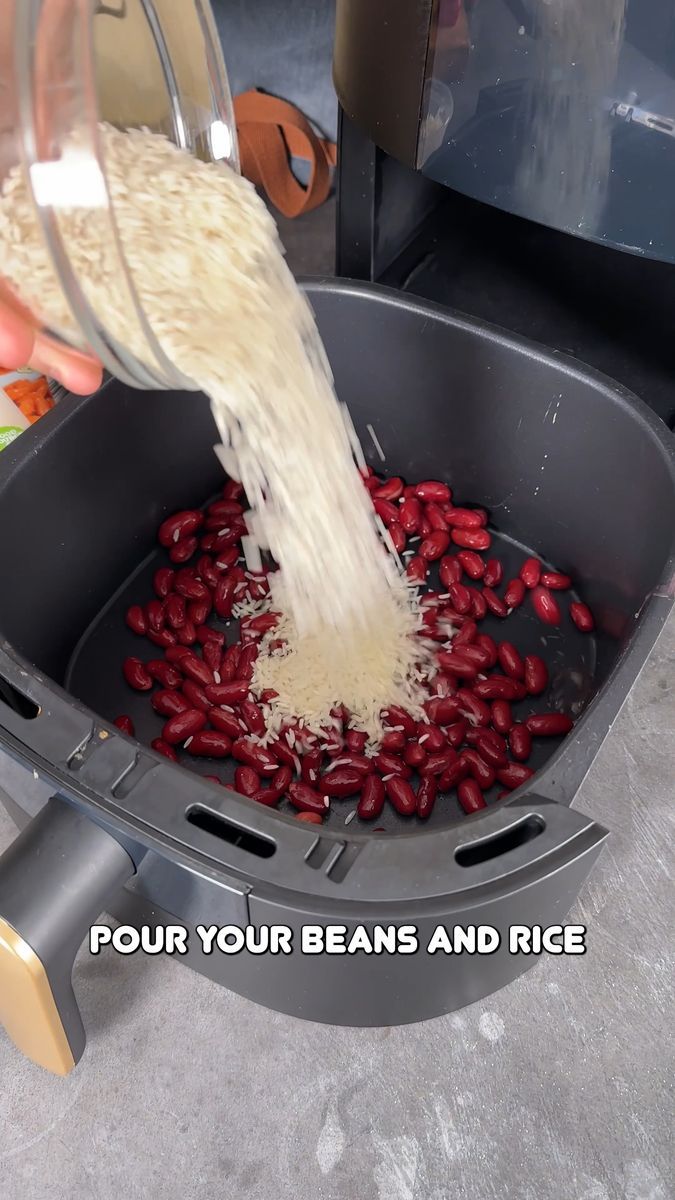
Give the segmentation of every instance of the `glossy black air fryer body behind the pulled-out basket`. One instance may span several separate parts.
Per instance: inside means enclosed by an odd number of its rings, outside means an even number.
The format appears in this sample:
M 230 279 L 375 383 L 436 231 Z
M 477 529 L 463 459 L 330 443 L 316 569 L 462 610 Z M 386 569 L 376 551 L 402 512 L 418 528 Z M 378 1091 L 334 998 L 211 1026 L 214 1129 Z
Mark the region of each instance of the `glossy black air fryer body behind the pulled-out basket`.
M 669 0 L 338 0 L 338 274 L 586 361 L 675 421 Z

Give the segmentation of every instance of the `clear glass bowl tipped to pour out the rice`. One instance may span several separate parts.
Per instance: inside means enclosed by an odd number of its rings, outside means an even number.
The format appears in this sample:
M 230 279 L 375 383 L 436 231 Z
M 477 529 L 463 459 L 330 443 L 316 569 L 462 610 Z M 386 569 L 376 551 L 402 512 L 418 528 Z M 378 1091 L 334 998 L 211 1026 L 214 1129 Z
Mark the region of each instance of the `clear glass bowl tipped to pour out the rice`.
M 92 352 L 137 388 L 193 388 L 162 352 L 125 260 L 106 178 L 100 122 L 144 127 L 178 146 L 239 169 L 227 72 L 209 0 L 0 0 L 0 187 L 20 166 L 36 220 L 79 331 L 48 337 Z M 68 139 L 78 131 L 82 151 Z M 64 206 L 96 209 L 119 283 L 145 347 L 132 355 L 107 328 L 78 280 L 65 239 Z M 0 246 L 0 276 L 2 274 Z M 4 293 L 8 295 L 6 284 Z M 25 312 L 17 295 L 13 305 Z M 138 341 L 135 342 L 138 344 Z

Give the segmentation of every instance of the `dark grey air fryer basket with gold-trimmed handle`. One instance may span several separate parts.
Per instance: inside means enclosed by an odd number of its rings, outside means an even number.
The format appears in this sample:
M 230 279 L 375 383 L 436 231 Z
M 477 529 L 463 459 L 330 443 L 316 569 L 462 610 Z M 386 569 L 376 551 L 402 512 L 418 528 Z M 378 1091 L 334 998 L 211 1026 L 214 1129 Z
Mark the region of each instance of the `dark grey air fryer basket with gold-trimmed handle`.
M 1 1003 L 0 1015 L 53 1069 L 70 1069 L 84 1045 L 70 970 L 103 908 L 189 928 L 412 923 L 423 946 L 441 922 L 506 932 L 561 920 L 607 836 L 568 805 L 673 602 L 673 438 L 611 382 L 489 326 L 372 287 L 309 293 L 372 464 L 368 424 L 387 470 L 448 479 L 490 510 L 500 554 L 527 547 L 579 582 L 596 637 L 549 632 L 526 611 L 509 631 L 519 622 L 532 649 L 546 638 L 554 688 L 581 715 L 507 800 L 472 818 L 438 805 L 428 826 L 392 815 L 389 835 L 345 827 L 348 802 L 317 832 L 124 737 L 110 724 L 119 712 L 132 712 L 143 743 L 157 732 L 147 698 L 121 682 L 123 658 L 138 649 L 124 610 L 150 596 L 162 516 L 221 486 L 215 430 L 193 394 L 109 383 L 61 404 L 0 458 L 11 581 L 0 595 L 0 742 L 54 790 L 37 818 L 17 798 L 19 822 L 34 820 L 0 860 L 0 947 L 5 925 L 43 970 L 43 1040 Z M 191 949 L 187 961 L 280 1010 L 378 1025 L 468 1003 L 531 960 L 500 948 L 456 960 Z

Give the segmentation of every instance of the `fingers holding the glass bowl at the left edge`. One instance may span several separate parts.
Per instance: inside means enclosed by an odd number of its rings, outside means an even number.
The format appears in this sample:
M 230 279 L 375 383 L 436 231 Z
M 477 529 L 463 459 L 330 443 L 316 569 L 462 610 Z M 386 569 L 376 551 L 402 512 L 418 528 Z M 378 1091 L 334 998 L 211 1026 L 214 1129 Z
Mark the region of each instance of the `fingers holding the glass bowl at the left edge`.
M 62 347 L 35 330 L 16 305 L 1 294 L 0 286 L 0 364 L 10 370 L 30 366 L 56 379 L 76 396 L 86 396 L 101 386 L 101 364 L 79 350 Z

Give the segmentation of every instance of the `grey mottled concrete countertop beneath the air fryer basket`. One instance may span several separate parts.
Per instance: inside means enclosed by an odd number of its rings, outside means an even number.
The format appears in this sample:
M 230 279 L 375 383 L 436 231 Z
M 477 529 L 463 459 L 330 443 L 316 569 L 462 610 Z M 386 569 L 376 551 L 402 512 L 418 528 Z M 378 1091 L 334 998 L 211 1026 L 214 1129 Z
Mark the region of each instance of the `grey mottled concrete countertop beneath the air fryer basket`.
M 310 1025 L 169 960 L 80 954 L 70 1078 L 0 1033 L 0 1196 L 671 1200 L 674 763 L 675 617 L 579 794 L 611 829 L 569 918 L 587 953 L 446 1018 Z

